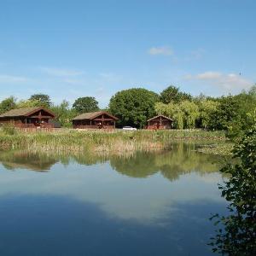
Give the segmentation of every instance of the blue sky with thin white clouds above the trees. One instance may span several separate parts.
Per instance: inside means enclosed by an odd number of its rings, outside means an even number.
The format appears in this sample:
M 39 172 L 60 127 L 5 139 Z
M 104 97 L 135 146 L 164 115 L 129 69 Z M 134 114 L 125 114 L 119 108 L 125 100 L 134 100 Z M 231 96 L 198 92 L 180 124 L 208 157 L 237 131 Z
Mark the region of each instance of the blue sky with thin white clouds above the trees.
M 256 1 L 0 1 L 0 100 L 118 90 L 236 94 L 256 82 Z

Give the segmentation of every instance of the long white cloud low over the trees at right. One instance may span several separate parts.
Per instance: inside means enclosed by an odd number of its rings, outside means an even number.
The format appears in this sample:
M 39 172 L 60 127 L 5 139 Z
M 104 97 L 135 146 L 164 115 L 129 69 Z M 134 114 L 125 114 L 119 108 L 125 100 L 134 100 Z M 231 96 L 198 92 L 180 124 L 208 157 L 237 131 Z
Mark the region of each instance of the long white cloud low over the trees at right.
M 197 75 L 187 75 L 185 79 L 197 80 L 209 85 L 217 87 L 224 93 L 237 93 L 241 90 L 250 88 L 253 84 L 252 81 L 241 77 L 241 75 L 235 73 L 220 73 L 208 71 L 205 73 L 199 73 Z

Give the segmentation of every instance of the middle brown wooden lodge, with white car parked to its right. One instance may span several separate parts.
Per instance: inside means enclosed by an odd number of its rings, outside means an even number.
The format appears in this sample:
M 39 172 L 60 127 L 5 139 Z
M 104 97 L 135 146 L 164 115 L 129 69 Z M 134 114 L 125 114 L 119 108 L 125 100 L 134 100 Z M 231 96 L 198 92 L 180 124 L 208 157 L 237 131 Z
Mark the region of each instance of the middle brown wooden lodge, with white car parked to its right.
M 105 111 L 82 113 L 73 119 L 73 128 L 76 129 L 114 129 L 118 120 Z

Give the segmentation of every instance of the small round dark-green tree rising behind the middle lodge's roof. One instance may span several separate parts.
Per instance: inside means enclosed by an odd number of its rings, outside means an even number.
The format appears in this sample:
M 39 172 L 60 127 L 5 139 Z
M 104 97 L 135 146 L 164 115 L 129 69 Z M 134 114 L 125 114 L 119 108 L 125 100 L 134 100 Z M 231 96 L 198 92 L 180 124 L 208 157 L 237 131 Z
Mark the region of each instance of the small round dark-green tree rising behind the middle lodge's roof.
M 73 109 L 77 113 L 98 111 L 98 102 L 94 97 L 80 97 L 73 103 Z

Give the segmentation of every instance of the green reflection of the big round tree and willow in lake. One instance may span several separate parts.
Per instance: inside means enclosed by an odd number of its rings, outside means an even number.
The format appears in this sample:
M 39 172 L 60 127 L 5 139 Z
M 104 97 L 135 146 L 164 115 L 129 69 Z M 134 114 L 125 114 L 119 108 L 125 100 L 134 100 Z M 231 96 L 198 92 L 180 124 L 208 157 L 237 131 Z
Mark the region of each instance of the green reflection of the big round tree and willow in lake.
M 161 172 L 172 181 L 189 172 L 217 172 L 219 160 L 215 155 L 197 153 L 194 144 L 177 143 L 170 151 L 140 152 L 125 160 L 111 158 L 110 163 L 114 170 L 130 177 L 148 177 Z

